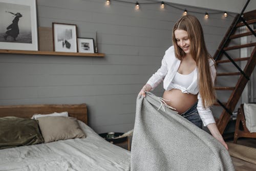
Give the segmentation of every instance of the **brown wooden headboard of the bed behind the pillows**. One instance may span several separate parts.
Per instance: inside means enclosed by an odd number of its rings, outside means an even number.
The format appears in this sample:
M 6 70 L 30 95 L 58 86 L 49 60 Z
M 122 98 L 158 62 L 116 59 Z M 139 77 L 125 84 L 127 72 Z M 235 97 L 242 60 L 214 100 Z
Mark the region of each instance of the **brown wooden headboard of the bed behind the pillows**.
M 86 104 L 32 104 L 32 105 L 0 105 L 0 117 L 16 116 L 31 118 L 34 114 L 50 114 L 68 112 L 69 116 L 88 124 Z

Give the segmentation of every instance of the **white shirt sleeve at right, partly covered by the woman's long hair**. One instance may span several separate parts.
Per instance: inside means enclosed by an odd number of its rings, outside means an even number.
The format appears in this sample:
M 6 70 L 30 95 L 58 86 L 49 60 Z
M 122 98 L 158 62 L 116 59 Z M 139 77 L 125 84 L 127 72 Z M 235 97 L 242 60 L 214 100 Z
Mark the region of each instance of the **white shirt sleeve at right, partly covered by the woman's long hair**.
M 215 63 L 213 61 L 210 62 L 210 72 L 211 72 L 212 83 L 214 83 L 215 77 L 216 77 L 216 68 L 215 68 Z M 197 98 L 198 98 L 197 110 L 200 118 L 203 121 L 204 126 L 207 126 L 210 123 L 216 123 L 210 108 L 209 107 L 204 108 L 200 93 L 198 93 Z

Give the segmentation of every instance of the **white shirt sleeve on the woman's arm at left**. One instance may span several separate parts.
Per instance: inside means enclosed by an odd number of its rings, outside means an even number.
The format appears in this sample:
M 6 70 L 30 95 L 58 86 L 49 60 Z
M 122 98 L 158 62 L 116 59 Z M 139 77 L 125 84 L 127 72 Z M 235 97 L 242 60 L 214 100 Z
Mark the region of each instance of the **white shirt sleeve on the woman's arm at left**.
M 167 63 L 165 58 L 166 58 L 166 51 L 162 59 L 161 67 L 147 81 L 147 83 L 150 84 L 150 86 L 152 87 L 152 90 L 154 90 L 159 85 L 159 83 L 163 81 L 165 75 L 167 74 L 168 70 L 167 70 Z

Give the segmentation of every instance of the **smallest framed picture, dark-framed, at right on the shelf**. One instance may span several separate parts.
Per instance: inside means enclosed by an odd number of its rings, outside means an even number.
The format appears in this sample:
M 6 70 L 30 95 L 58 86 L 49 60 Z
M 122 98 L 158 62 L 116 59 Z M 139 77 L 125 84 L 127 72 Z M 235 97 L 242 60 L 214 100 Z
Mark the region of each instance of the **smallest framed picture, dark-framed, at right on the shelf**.
M 77 38 L 79 53 L 94 53 L 94 39 L 93 38 Z

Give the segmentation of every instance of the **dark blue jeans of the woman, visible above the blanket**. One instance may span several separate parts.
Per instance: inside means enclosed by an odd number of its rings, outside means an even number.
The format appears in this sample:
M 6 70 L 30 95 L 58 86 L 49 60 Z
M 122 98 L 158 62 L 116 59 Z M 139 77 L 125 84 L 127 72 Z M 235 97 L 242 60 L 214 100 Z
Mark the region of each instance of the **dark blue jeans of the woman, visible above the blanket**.
M 197 102 L 186 112 L 182 113 L 181 116 L 203 129 L 203 122 L 197 111 Z

